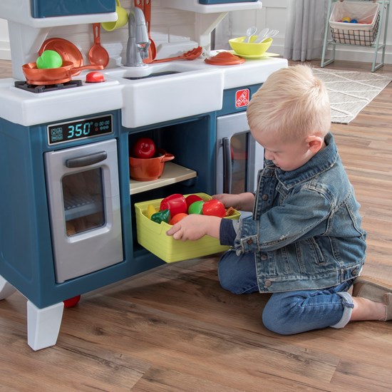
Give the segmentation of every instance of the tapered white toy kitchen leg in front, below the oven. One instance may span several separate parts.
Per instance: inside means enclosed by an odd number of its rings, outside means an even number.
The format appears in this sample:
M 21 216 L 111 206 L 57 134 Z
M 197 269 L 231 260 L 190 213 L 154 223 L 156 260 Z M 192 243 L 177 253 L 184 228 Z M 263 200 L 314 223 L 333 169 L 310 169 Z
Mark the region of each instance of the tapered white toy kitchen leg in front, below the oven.
M 31 349 L 36 351 L 56 344 L 63 309 L 63 302 L 38 309 L 27 301 L 27 343 Z

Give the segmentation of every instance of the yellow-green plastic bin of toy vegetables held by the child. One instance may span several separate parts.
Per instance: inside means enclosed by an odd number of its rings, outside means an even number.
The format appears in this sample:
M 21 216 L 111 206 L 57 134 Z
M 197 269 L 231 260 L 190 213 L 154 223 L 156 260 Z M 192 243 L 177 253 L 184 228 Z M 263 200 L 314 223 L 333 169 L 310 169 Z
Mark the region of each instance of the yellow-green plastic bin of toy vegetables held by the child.
M 205 193 L 195 193 L 203 200 L 211 199 Z M 185 197 L 187 195 L 184 195 Z M 205 235 L 197 241 L 181 241 L 166 235 L 171 225 L 161 222 L 153 222 L 146 216 L 148 205 L 153 205 L 157 209 L 163 199 L 149 200 L 148 202 L 135 203 L 136 228 L 138 231 L 138 242 L 142 247 L 158 256 L 167 263 L 180 262 L 182 260 L 194 259 L 195 257 L 207 256 L 225 252 L 229 247 L 220 244 L 219 239 Z M 240 213 L 235 211 L 233 215 L 225 219 L 239 219 Z

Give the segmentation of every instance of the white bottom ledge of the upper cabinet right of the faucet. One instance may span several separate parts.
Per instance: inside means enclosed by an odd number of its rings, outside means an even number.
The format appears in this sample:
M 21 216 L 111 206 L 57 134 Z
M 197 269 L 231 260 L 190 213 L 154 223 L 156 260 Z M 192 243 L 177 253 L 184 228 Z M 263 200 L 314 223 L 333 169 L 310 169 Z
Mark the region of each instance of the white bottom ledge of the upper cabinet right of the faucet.
M 246 1 L 242 3 L 227 4 L 200 4 L 199 0 L 161 0 L 161 4 L 167 8 L 193 11 L 198 14 L 219 14 L 229 11 L 244 11 L 248 9 L 262 9 L 262 1 Z

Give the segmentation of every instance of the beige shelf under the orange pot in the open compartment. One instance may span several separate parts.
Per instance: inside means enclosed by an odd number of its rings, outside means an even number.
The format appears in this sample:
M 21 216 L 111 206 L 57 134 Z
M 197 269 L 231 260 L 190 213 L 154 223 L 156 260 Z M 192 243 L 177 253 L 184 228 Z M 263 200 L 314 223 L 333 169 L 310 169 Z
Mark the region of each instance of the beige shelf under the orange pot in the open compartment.
M 194 178 L 196 176 L 197 172 L 194 170 L 176 165 L 172 162 L 166 162 L 163 174 L 160 176 L 160 178 L 158 178 L 158 180 L 136 181 L 131 179 L 129 182 L 130 195 L 135 195 L 136 193 L 145 192 L 147 190 L 152 190 L 159 187 L 165 187 L 166 185 L 189 180 L 190 178 Z

